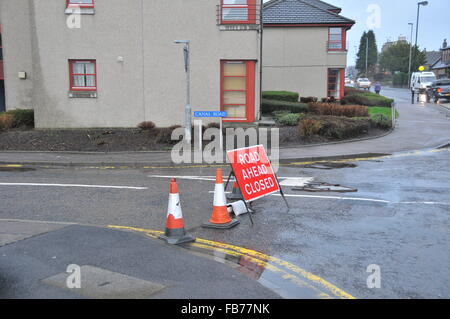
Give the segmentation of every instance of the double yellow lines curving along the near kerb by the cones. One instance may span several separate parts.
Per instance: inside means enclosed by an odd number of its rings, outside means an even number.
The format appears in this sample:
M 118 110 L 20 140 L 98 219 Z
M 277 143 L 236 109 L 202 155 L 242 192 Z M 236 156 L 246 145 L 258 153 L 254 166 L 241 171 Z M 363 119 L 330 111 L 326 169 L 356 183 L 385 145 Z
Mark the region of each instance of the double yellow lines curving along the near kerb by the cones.
M 144 232 L 146 234 L 151 234 L 155 237 L 163 234 L 162 231 L 156 231 L 156 230 L 149 230 L 149 229 L 143 229 L 143 228 L 135 228 L 135 227 L 127 227 L 127 226 L 113 226 L 113 225 L 109 225 L 109 228 L 114 228 L 114 229 L 123 229 L 123 230 L 131 230 L 131 231 L 137 231 L 137 232 Z M 255 257 L 255 258 L 259 258 L 262 259 L 265 262 L 272 262 L 274 264 L 277 264 L 279 266 L 285 267 L 286 269 L 300 275 L 301 277 L 315 283 L 318 284 L 319 286 L 321 286 L 322 288 L 325 288 L 327 291 L 331 292 L 333 295 L 335 295 L 336 297 L 342 298 L 342 299 L 355 299 L 354 296 L 350 295 L 349 293 L 343 291 L 342 289 L 334 286 L 333 284 L 329 283 L 328 281 L 326 281 L 325 279 L 316 276 L 296 265 L 293 265 L 287 261 L 284 261 L 282 259 L 276 258 L 276 257 L 272 257 L 251 249 L 247 249 L 247 248 L 243 248 L 243 247 L 238 247 L 238 246 L 234 246 L 234 245 L 229 245 L 229 244 L 223 244 L 223 243 L 219 243 L 219 242 L 215 242 L 215 241 L 211 241 L 211 240 L 206 240 L 206 239 L 202 239 L 202 238 L 197 238 L 196 239 L 197 244 L 198 243 L 202 243 L 202 244 L 206 244 L 206 245 L 210 245 L 213 246 L 215 248 L 221 248 L 221 249 L 225 249 L 227 253 L 237 253 L 240 256 L 246 256 L 246 257 Z M 269 266 L 271 267 L 272 271 L 275 271 L 275 268 L 278 269 L 278 272 L 283 272 L 281 269 L 271 265 Z M 275 267 L 275 268 L 272 268 Z M 294 280 L 292 280 L 292 275 L 290 275 L 289 273 L 285 273 L 286 279 L 290 279 L 291 281 L 293 281 L 295 283 Z M 299 284 L 300 282 L 303 282 L 302 280 L 300 280 L 299 278 L 297 278 L 299 280 L 299 282 L 297 282 L 297 284 Z M 323 295 L 324 296 L 324 295 Z

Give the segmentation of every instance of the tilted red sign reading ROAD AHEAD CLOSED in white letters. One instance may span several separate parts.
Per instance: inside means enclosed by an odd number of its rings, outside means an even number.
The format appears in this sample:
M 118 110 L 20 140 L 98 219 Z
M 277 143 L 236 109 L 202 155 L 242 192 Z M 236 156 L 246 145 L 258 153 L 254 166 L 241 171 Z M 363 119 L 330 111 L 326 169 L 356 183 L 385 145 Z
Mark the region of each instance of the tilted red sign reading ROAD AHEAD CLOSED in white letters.
M 227 155 L 244 200 L 253 201 L 280 190 L 263 145 L 228 151 Z

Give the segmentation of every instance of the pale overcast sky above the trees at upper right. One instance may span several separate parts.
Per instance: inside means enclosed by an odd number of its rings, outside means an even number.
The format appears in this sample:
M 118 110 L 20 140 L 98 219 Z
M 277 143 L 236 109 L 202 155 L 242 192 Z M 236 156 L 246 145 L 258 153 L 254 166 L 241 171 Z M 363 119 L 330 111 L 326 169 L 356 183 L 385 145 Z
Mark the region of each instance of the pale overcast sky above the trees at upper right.
M 266 1 L 266 0 L 265 0 Z M 411 36 L 408 22 L 416 24 L 417 0 L 325 0 L 332 5 L 342 8 L 341 15 L 356 21 L 349 31 L 348 65 L 355 64 L 355 46 L 359 46 L 359 40 L 364 30 L 369 25 L 376 23 L 371 19 L 373 15 L 367 12 L 371 5 L 380 8 L 380 24 L 373 28 L 377 37 L 378 49 L 388 39 L 396 40 L 400 35 Z M 428 0 L 426 7 L 420 8 L 419 39 L 418 44 L 427 51 L 438 50 L 444 39 L 450 43 L 450 0 Z M 372 11 L 374 12 L 374 11 Z M 415 40 L 415 30 L 413 41 Z

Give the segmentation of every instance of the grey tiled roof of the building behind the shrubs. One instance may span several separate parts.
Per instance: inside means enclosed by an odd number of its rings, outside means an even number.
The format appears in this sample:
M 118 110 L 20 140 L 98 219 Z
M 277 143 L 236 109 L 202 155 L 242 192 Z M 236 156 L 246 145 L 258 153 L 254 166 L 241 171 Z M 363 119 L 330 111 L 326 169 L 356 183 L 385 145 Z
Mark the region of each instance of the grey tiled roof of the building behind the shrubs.
M 312 3 L 315 3 L 314 5 Z M 355 21 L 317 6 L 317 0 L 272 0 L 263 8 L 264 24 L 354 24 Z

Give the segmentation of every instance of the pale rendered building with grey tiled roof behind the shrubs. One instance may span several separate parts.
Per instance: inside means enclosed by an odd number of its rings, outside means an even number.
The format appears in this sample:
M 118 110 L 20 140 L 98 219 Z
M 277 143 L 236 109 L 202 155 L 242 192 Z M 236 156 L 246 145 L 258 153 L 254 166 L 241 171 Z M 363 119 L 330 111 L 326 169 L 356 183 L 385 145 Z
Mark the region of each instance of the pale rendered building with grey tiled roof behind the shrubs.
M 319 0 L 271 0 L 263 7 L 263 90 L 318 98 L 344 95 L 347 31 L 355 21 Z

